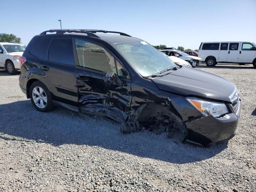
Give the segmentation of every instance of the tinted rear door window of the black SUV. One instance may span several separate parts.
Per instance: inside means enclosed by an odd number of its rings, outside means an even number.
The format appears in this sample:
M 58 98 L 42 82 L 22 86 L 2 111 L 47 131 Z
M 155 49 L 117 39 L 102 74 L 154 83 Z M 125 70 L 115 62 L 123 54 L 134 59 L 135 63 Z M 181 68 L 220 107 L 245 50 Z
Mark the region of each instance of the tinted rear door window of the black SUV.
M 72 39 L 53 39 L 49 49 L 48 60 L 74 65 Z

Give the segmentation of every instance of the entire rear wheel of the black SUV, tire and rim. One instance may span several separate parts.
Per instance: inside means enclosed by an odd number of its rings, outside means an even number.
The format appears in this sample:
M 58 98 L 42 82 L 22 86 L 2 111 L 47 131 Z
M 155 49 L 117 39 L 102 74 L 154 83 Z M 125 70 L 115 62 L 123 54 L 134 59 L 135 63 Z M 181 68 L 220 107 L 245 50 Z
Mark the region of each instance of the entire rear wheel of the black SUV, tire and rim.
M 36 110 L 40 112 L 49 112 L 54 108 L 51 94 L 42 82 L 36 81 L 32 83 L 29 94 L 30 100 Z

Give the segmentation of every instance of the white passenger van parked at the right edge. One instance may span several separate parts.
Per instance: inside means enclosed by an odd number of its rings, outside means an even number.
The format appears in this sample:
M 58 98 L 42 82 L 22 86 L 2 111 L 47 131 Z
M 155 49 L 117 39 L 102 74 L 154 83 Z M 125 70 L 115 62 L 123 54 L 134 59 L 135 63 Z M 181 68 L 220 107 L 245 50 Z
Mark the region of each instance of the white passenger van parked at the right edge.
M 246 63 L 256 67 L 256 44 L 253 42 L 202 42 L 198 56 L 207 66 L 214 66 L 218 62 Z

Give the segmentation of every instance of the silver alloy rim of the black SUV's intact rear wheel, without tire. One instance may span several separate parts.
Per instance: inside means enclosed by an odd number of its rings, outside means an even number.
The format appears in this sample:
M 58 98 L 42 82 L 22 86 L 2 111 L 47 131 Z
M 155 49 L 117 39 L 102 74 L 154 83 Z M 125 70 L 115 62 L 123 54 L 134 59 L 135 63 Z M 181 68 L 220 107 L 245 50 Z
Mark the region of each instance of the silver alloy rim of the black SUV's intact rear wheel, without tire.
M 34 87 L 32 91 L 32 97 L 33 97 L 34 103 L 38 108 L 41 108 L 41 109 L 45 108 L 47 104 L 47 96 L 45 91 L 41 87 L 39 86 Z

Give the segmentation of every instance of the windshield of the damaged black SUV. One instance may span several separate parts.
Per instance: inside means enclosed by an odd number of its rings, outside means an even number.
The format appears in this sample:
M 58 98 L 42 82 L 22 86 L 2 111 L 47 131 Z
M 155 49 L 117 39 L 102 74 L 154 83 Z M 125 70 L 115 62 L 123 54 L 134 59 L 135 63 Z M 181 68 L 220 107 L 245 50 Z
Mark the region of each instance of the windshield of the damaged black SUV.
M 121 43 L 114 46 L 142 76 L 160 74 L 161 71 L 168 68 L 178 68 L 172 60 L 144 41 Z

